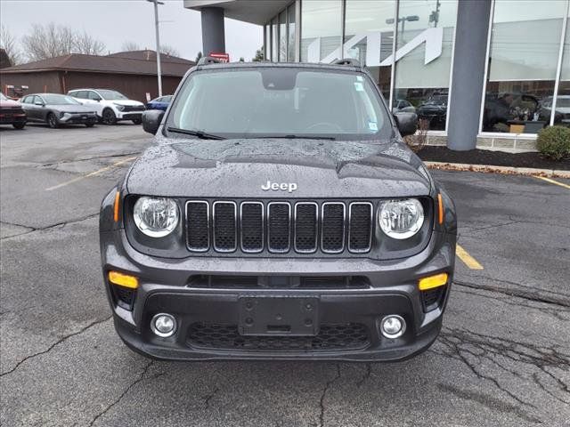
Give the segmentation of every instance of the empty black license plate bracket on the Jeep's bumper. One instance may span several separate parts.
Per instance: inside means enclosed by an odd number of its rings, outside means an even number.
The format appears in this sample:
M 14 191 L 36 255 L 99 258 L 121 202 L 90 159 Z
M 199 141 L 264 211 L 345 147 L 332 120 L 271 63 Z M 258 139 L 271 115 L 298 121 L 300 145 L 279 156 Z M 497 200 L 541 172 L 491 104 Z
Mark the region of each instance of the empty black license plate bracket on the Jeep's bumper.
M 315 296 L 241 296 L 238 330 L 242 335 L 316 335 L 319 298 Z

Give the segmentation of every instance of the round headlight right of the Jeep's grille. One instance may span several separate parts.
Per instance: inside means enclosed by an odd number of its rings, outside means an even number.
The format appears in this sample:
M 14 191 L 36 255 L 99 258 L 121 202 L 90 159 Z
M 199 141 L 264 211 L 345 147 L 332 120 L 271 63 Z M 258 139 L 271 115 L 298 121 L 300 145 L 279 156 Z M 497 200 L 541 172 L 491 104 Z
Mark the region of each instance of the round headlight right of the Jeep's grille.
M 378 221 L 390 238 L 411 238 L 424 223 L 424 208 L 416 198 L 387 200 L 380 208 Z

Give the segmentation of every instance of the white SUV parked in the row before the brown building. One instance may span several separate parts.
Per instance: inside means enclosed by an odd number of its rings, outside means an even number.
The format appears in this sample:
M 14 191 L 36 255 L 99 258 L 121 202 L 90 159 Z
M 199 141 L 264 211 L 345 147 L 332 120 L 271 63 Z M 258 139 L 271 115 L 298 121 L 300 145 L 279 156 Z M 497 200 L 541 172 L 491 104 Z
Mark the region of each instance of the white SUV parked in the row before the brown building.
M 135 125 L 142 122 L 144 104 L 129 100 L 122 93 L 110 89 L 74 89 L 68 92 L 84 105 L 93 106 L 99 121 L 115 125 L 119 120 L 132 120 Z

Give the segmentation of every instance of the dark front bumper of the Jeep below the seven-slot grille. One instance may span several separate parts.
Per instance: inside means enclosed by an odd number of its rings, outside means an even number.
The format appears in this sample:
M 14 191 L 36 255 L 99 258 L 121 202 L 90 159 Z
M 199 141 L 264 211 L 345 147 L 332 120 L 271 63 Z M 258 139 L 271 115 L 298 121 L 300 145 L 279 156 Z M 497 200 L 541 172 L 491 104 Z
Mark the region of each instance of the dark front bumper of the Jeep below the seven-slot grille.
M 426 350 L 436 340 L 449 295 L 454 265 L 456 236 L 434 232 L 428 246 L 419 254 L 401 260 L 378 261 L 362 257 L 347 259 L 272 258 L 185 258 L 161 259 L 141 254 L 129 245 L 124 230 L 101 233 L 102 266 L 105 283 L 119 336 L 133 350 L 170 360 L 210 359 L 338 359 L 348 361 L 388 361 L 410 358 Z M 114 285 L 107 280 L 109 270 L 134 274 L 140 286 L 132 310 L 119 307 Z M 440 272 L 450 275 L 439 305 L 426 311 L 418 290 L 418 279 Z M 314 277 L 366 278 L 364 288 L 205 288 L 192 287 L 191 277 L 232 275 L 234 277 Z M 240 323 L 240 298 L 267 296 L 315 298 L 318 324 L 328 327 L 362 326 L 367 338 L 350 345 L 317 346 L 311 339 L 297 347 L 275 348 L 264 339 L 233 334 Z M 177 332 L 169 338 L 152 334 L 151 318 L 166 312 L 175 316 Z M 400 338 L 387 339 L 379 333 L 380 319 L 398 314 L 407 324 Z M 220 343 L 214 331 L 196 338 L 196 327 L 224 327 Z M 230 329 L 228 329 L 230 328 Z M 228 332 L 230 330 L 230 332 Z M 236 329 L 237 330 L 237 329 Z M 217 334 L 217 335 L 216 335 Z M 233 335 L 232 335 L 233 334 Z M 313 341 L 319 341 L 318 333 Z M 212 339 L 208 341 L 208 337 Z M 341 340 L 346 334 L 340 334 Z M 208 339 L 207 339 L 208 338 Z M 350 337 L 349 337 L 350 338 Z M 295 340 L 292 340 L 295 341 Z M 298 340 L 297 340 L 298 341 Z M 228 342 L 232 345 L 227 345 Z M 258 348 L 251 343 L 261 344 Z

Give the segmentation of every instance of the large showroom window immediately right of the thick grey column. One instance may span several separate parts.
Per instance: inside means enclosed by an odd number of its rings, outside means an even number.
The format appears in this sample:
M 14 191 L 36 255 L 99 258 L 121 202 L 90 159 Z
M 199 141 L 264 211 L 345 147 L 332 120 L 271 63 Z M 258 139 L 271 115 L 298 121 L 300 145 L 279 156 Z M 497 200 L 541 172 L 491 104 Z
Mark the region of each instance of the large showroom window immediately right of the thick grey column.
M 497 0 L 485 88 L 484 132 L 537 133 L 550 122 L 566 1 Z

